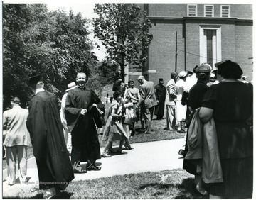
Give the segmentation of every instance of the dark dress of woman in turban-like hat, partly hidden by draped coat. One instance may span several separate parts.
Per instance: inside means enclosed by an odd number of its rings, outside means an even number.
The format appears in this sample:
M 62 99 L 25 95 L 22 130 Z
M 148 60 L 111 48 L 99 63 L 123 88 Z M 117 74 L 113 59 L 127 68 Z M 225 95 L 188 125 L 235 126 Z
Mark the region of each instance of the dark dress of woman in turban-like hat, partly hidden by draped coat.
M 191 123 L 191 119 L 193 118 L 193 114 L 195 113 L 195 109 L 200 108 L 203 103 L 203 97 L 206 94 L 206 91 L 208 90 L 208 86 L 201 82 L 201 80 L 198 80 L 196 84 L 191 87 L 191 90 L 189 91 L 189 96 L 188 96 L 188 106 L 193 109 L 192 114 L 190 119 L 188 120 L 188 128 Z M 186 145 L 185 145 L 185 152 L 184 152 L 184 157 L 188 153 L 188 145 L 187 145 L 187 140 L 188 140 L 188 134 L 186 138 Z M 183 169 L 185 169 L 187 172 L 191 174 L 196 175 L 196 160 L 188 160 L 184 159 L 183 161 Z

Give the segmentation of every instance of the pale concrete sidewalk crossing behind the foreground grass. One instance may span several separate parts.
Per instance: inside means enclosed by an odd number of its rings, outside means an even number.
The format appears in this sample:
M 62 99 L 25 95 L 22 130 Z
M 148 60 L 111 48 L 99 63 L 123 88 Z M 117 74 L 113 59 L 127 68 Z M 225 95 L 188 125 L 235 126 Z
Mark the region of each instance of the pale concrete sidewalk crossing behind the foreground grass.
M 88 171 L 85 174 L 75 174 L 73 181 L 182 168 L 183 159 L 179 159 L 181 156 L 178 155 L 178 150 L 183 147 L 184 143 L 185 140 L 181 138 L 132 144 L 132 148 L 134 149 L 124 150 L 127 154 L 112 155 L 112 157 L 97 160 L 96 165 L 102 167 L 102 170 Z M 101 152 L 102 150 L 103 148 L 101 148 Z M 6 172 L 3 172 L 3 176 L 4 174 L 6 174 Z M 34 157 L 28 160 L 27 177 L 30 177 L 30 179 L 26 184 L 38 185 L 38 172 Z M 6 179 L 6 175 L 3 178 Z M 4 181 L 3 194 L 6 196 L 9 192 L 13 193 L 21 187 L 21 184 L 9 186 L 7 182 Z

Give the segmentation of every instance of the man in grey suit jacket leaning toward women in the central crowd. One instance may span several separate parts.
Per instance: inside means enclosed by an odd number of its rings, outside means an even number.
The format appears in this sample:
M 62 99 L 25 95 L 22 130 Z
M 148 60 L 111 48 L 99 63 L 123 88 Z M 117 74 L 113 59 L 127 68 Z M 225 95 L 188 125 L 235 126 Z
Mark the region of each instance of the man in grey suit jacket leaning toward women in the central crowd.
M 141 84 L 141 98 L 137 104 L 137 107 L 144 106 L 144 113 L 142 116 L 145 121 L 145 133 L 151 133 L 151 122 L 154 115 L 154 106 L 157 105 L 156 102 L 156 94 L 154 92 L 154 83 L 148 82 L 145 80 L 143 76 L 139 76 L 138 78 L 139 84 Z

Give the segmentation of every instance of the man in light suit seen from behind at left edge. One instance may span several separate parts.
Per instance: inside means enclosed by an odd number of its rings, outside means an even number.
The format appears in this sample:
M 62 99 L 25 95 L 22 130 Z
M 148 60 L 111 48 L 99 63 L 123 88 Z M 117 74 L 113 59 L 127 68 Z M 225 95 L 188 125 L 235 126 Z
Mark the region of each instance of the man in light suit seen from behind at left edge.
M 19 106 L 20 100 L 14 97 L 11 100 L 12 109 L 4 111 L 4 126 L 6 138 L 4 146 L 6 148 L 6 163 L 9 185 L 16 184 L 16 157 L 18 157 L 18 173 L 20 182 L 26 181 L 27 173 L 27 148 L 31 143 L 26 119 L 28 110 Z

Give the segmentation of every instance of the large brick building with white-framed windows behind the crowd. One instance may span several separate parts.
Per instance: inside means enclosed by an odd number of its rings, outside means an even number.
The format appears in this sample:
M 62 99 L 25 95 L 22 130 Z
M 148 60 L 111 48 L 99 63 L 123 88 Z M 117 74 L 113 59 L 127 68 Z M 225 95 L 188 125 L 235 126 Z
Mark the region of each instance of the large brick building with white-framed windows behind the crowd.
M 139 4 L 151 20 L 153 40 L 142 70 L 129 77 L 158 83 L 171 72 L 192 71 L 203 62 L 238 62 L 252 80 L 252 4 Z

